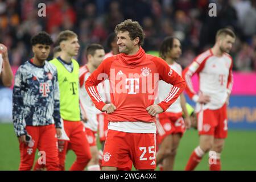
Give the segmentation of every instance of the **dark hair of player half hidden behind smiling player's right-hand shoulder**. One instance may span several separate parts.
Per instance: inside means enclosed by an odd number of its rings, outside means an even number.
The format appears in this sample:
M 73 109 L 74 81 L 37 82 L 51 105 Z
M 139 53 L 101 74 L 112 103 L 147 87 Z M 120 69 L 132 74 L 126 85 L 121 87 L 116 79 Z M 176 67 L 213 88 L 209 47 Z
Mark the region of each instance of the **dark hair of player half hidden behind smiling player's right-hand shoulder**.
M 166 59 L 168 52 L 171 51 L 172 47 L 174 47 L 174 39 L 179 40 L 175 36 L 167 36 L 164 38 L 159 49 L 159 56 L 162 59 Z

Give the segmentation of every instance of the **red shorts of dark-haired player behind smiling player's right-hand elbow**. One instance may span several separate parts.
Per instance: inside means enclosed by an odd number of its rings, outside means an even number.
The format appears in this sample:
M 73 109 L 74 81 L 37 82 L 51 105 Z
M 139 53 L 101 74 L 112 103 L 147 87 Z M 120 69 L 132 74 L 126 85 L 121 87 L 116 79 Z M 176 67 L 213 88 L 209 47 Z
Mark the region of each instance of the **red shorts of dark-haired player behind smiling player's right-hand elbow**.
M 185 132 L 185 122 L 182 113 L 160 113 L 156 116 L 156 129 L 158 131 L 156 139 L 158 144 L 168 135 Z

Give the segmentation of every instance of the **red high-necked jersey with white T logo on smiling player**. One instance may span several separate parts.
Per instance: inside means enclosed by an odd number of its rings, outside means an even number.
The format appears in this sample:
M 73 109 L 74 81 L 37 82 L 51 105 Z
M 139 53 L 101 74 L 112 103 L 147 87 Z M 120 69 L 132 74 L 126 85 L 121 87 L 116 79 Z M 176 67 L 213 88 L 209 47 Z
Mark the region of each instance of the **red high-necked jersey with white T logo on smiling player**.
M 173 85 L 170 93 L 159 106 L 165 111 L 183 92 L 186 84 L 163 59 L 147 55 L 140 47 L 135 55 L 118 55 L 105 59 L 85 82 L 85 88 L 99 110 L 105 103 L 97 91 L 97 85 L 110 80 L 111 102 L 117 109 L 108 114 L 109 121 L 155 122 L 146 108 L 154 104 L 158 93 L 158 81 Z

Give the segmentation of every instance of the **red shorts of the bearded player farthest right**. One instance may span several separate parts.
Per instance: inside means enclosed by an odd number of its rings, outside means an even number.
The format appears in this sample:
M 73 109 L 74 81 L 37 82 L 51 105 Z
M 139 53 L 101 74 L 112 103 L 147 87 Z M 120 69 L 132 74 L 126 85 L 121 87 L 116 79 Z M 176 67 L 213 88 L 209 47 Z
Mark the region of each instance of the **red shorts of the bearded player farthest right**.
M 216 110 L 200 110 L 197 113 L 199 135 L 213 135 L 214 138 L 226 138 L 228 135 L 228 116 L 226 104 Z

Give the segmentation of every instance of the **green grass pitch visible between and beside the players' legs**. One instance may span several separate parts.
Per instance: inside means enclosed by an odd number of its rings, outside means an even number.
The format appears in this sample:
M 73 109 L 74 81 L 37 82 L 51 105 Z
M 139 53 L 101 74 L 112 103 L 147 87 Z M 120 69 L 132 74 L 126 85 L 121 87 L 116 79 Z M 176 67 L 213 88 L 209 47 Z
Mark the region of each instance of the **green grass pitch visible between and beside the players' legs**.
M 230 130 L 224 151 L 221 154 L 222 170 L 256 170 L 256 131 Z M 198 145 L 196 130 L 188 130 L 181 139 L 177 151 L 175 170 L 183 170 L 193 149 Z M 0 170 L 18 170 L 19 145 L 12 124 L 0 124 Z M 69 151 L 66 169 L 75 160 L 73 151 Z M 196 170 L 208 170 L 208 156 L 197 166 Z

